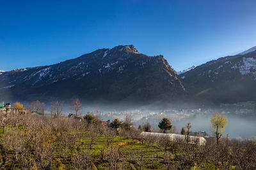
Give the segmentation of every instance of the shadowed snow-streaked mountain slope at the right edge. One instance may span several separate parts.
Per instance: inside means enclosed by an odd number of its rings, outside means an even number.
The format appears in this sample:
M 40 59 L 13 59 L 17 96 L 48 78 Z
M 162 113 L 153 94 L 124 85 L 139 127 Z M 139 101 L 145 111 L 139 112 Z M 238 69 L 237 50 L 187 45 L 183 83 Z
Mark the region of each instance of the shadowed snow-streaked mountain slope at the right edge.
M 204 101 L 256 101 L 256 51 L 212 60 L 179 77 L 191 96 Z

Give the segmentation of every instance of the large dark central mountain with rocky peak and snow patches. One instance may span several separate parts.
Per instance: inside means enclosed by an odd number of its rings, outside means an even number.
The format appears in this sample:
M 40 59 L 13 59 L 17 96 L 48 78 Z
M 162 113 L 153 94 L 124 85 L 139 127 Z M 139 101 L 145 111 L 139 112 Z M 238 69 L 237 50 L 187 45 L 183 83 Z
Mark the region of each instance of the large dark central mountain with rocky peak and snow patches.
M 96 50 L 51 66 L 5 72 L 0 75 L 0 92 L 5 99 L 79 97 L 84 101 L 131 103 L 186 94 L 162 55 L 149 57 L 132 45 Z

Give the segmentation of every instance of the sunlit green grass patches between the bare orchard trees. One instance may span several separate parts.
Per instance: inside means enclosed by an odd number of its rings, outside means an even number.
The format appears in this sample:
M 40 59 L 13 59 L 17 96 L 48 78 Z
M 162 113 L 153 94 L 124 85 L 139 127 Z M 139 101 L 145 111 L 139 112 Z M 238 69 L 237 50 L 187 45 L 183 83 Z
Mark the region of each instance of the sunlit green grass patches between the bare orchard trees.
M 3 137 L 3 127 L 0 127 L 0 138 Z M 23 127 L 5 127 L 5 131 L 8 132 L 24 132 L 26 131 Z M 165 169 L 163 164 L 163 151 L 157 148 L 156 146 L 148 146 L 143 143 L 141 143 L 138 140 L 135 139 L 129 139 L 129 138 L 123 138 L 121 136 L 115 136 L 111 139 L 109 139 L 109 142 L 107 141 L 104 136 L 97 136 L 93 138 L 93 143 L 91 143 L 91 138 L 84 137 L 88 133 L 88 131 L 76 131 L 74 133 L 81 133 L 81 138 L 77 138 L 77 143 L 79 143 L 79 148 L 76 146 L 75 152 L 77 150 L 86 150 L 89 152 L 90 158 L 93 160 L 92 164 L 97 169 L 108 169 L 109 162 L 106 162 L 104 160 L 100 160 L 100 154 L 104 151 L 105 154 L 108 154 L 110 150 L 115 148 L 120 153 L 126 153 L 127 155 L 131 154 L 131 158 L 125 158 L 120 157 L 120 160 L 118 160 L 118 164 L 124 164 L 122 166 L 125 166 L 125 169 Z M 56 155 L 60 155 L 60 150 L 63 147 L 62 144 L 58 145 L 59 147 L 56 149 Z M 68 153 L 72 153 L 74 150 L 68 150 Z M 13 152 L 8 152 L 10 157 L 13 157 Z M 141 155 L 143 155 L 142 161 Z M 32 155 L 31 155 L 32 156 Z M 32 156 L 33 157 L 33 156 Z M 1 160 L 0 155 L 0 162 Z M 70 162 L 68 159 L 58 159 L 56 158 L 56 162 L 59 162 L 58 166 L 56 166 L 56 169 L 74 169 L 72 162 Z M 140 162 L 141 161 L 141 162 Z M 125 163 L 124 163 L 125 162 Z M 6 167 L 3 169 L 9 169 L 10 164 L 6 164 Z M 15 169 L 22 169 L 20 166 L 20 162 L 15 163 Z

